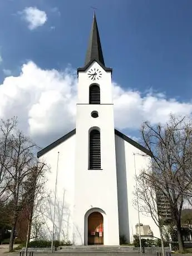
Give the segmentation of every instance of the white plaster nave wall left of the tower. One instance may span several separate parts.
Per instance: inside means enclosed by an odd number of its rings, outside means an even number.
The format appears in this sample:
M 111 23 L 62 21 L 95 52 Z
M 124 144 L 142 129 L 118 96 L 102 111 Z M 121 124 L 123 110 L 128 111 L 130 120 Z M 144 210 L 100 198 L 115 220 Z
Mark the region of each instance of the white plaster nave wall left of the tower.
M 63 233 L 66 240 L 73 240 L 73 200 L 74 200 L 74 175 L 75 175 L 75 135 L 71 136 L 60 145 L 48 151 L 40 157 L 51 167 L 47 174 L 47 193 L 51 193 L 51 202 L 46 203 L 43 209 L 42 221 L 45 221 L 45 233 L 47 239 L 52 237 L 53 229 L 53 205 L 55 200 L 55 182 L 58 160 L 56 214 L 55 214 L 55 239 L 63 240 Z

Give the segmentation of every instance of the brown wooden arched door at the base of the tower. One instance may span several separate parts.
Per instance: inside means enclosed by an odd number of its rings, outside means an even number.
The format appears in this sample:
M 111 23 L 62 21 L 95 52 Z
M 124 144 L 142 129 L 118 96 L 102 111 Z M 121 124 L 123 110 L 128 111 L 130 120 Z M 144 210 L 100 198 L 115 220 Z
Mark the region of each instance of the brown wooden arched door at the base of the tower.
M 98 211 L 88 216 L 87 244 L 104 244 L 104 217 Z

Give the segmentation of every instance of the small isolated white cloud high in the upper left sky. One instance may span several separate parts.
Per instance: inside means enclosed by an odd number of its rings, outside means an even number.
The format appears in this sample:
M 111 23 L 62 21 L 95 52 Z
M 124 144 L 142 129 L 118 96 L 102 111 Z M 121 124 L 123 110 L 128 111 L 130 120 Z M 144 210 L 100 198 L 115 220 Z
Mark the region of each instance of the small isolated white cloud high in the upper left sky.
M 22 12 L 19 12 L 24 20 L 28 23 L 28 28 L 33 30 L 43 26 L 47 21 L 47 14 L 36 7 L 27 7 Z

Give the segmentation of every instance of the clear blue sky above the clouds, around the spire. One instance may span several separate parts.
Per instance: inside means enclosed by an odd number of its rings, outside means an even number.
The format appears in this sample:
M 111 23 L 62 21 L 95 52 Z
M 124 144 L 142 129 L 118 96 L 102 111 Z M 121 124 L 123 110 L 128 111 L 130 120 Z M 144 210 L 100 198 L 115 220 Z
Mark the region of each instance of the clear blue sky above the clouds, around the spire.
M 0 83 L 5 86 L 7 76 L 20 76 L 28 61 L 58 72 L 68 65 L 83 66 L 91 6 L 98 8 L 106 66 L 114 68 L 113 80 L 122 90 L 139 91 L 142 99 L 147 92 L 163 93 L 165 101 L 191 104 L 191 0 L 1 0 Z M 29 29 L 23 11 L 29 7 L 45 12 L 46 22 Z M 136 130 L 120 128 L 128 134 Z

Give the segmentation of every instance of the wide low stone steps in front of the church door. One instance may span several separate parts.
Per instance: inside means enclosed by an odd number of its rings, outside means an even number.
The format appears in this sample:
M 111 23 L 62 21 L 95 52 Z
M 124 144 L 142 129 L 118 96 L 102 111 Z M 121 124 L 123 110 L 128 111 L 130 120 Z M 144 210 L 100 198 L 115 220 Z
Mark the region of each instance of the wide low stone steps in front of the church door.
M 60 252 L 134 252 L 134 247 L 131 245 L 72 245 L 72 246 L 62 246 L 62 249 L 57 248 L 57 253 Z

